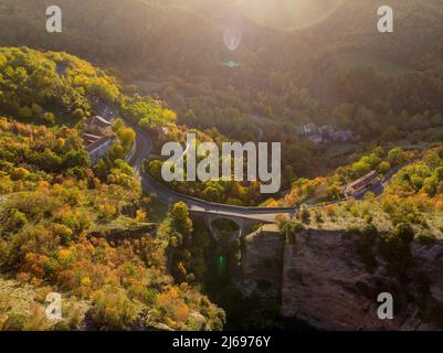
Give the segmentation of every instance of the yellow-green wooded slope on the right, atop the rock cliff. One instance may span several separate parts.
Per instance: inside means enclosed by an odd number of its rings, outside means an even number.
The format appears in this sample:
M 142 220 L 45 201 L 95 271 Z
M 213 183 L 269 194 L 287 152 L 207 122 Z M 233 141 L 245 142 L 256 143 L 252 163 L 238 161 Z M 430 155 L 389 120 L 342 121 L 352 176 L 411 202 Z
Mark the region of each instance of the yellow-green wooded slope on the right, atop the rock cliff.
M 394 223 L 410 222 L 422 225 L 430 231 L 426 221 L 433 218 L 437 222 L 436 233 L 440 235 L 441 221 L 443 221 L 442 193 L 443 193 L 443 148 L 441 143 L 424 151 L 405 152 L 399 148 L 390 151 L 383 151 L 381 148 L 372 150 L 370 154 L 362 156 L 358 161 L 350 165 L 344 165 L 336 170 L 335 174 L 328 176 L 319 176 L 313 180 L 299 179 L 293 184 L 292 191 L 284 197 L 284 204 L 296 205 L 315 200 L 316 203 L 331 203 L 323 207 L 313 207 L 312 221 L 323 222 L 323 216 L 317 211 L 330 212 L 330 218 L 335 218 L 334 210 L 346 210 L 350 214 L 346 216 L 361 217 L 372 222 L 371 214 L 377 214 L 378 207 L 386 212 L 388 217 Z M 370 171 L 379 173 L 383 180 L 383 192 L 379 197 L 375 199 L 375 194 L 369 192 L 365 195 L 365 200 L 356 201 L 349 197 L 347 201 L 341 200 L 342 188 L 346 188 L 352 180 L 363 176 Z M 360 197 L 361 199 L 361 197 Z M 336 203 L 334 204 L 334 201 Z M 309 202 L 308 202 L 309 203 Z M 371 203 L 371 207 L 368 207 Z M 362 206 L 366 204 L 366 206 Z M 371 210 L 370 210 L 371 208 Z M 380 211 L 380 210 L 379 210 Z M 302 217 L 304 216 L 302 212 Z M 307 207 L 306 216 L 309 216 L 309 207 Z M 318 216 L 318 218 L 317 218 Z M 384 215 L 386 216 L 386 215 Z M 431 221 L 432 222 L 432 221 Z M 338 226 L 348 223 L 341 218 Z

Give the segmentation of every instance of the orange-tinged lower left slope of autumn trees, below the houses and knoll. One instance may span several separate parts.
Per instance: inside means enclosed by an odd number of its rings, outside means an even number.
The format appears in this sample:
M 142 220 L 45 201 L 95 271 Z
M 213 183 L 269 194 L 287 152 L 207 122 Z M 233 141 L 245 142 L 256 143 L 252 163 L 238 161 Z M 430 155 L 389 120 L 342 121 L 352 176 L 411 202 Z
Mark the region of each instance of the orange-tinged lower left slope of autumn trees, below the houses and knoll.
M 36 161 L 33 153 L 25 160 L 21 156 L 27 152 L 30 131 L 34 131 L 33 143 L 45 148 Z M 71 159 L 71 168 L 84 169 L 83 175 L 48 174 L 54 167 L 51 159 L 65 159 L 68 143 L 63 142 L 70 133 L 54 135 L 48 128 L 0 120 L 1 141 L 8 142 L 0 156 L 0 197 L 7 197 L 0 204 L 1 272 L 40 287 L 42 292 L 56 290 L 66 300 L 85 300 L 91 308 L 89 324 L 96 329 L 160 324 L 181 330 L 221 329 L 223 312 L 198 289 L 177 286 L 168 275 L 167 238 L 144 231 L 147 218 L 137 181 L 128 185 L 113 178 L 103 183 L 94 178 L 87 158 L 77 163 Z M 110 172 L 114 176 L 122 173 L 127 173 L 125 168 Z M 134 179 L 131 170 L 126 179 Z M 117 244 L 106 240 L 107 232 L 129 229 L 141 237 Z M 6 330 L 40 330 L 36 324 L 46 320 L 43 312 L 3 315 L 1 312 L 0 329 Z M 51 324 L 54 329 L 54 322 Z M 78 329 L 82 320 L 68 312 L 55 324 L 59 330 Z

